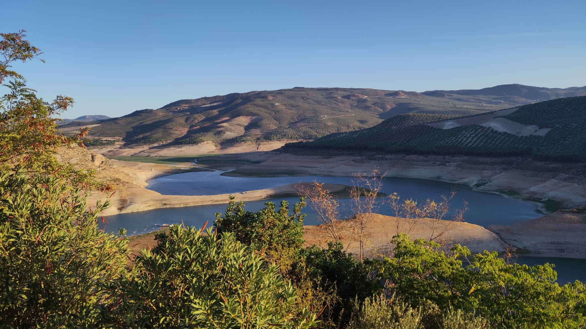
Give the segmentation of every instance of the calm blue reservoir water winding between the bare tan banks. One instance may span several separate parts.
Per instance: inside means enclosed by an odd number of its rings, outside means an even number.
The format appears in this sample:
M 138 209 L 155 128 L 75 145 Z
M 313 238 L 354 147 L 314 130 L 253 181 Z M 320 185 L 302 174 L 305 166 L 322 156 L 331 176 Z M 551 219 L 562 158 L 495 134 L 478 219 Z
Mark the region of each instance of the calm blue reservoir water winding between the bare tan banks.
M 147 189 L 168 195 L 191 195 L 206 196 L 213 194 L 237 194 L 243 191 L 270 189 L 285 184 L 294 184 L 318 180 L 322 183 L 352 185 L 352 177 L 230 177 L 222 176 L 222 172 L 193 172 L 174 174 L 158 177 L 149 180 Z M 469 211 L 465 214 L 465 220 L 472 224 L 482 225 L 511 225 L 519 221 L 532 220 L 540 217 L 537 212 L 537 205 L 512 200 L 499 196 L 498 194 L 483 193 L 472 190 L 471 187 L 462 184 L 451 184 L 441 181 L 424 179 L 407 179 L 389 177 L 383 181 L 383 192 L 386 194 L 398 193 L 401 198 L 413 198 L 414 200 L 425 201 L 427 198 L 439 200 L 440 196 L 456 190 L 456 196 L 451 202 L 452 209 L 462 206 L 462 201 L 468 201 Z M 298 198 L 282 198 L 292 204 Z M 227 204 L 226 200 L 226 204 Z M 256 211 L 264 207 L 264 203 L 277 200 L 247 201 L 246 209 Z M 223 213 L 226 204 L 196 205 L 192 207 L 162 208 L 138 213 L 118 214 L 107 217 L 108 224 L 105 228 L 108 231 L 118 231 L 118 228 L 128 229 L 130 234 L 140 234 L 155 229 L 155 224 L 180 224 L 202 227 L 207 221 L 208 227 L 212 226 L 215 219 L 214 213 Z M 340 200 L 343 208 L 349 207 L 349 200 Z M 307 214 L 304 224 L 317 224 L 315 213 L 309 208 L 304 209 Z M 383 205 L 378 213 L 383 215 L 394 215 L 389 205 Z M 521 256 L 519 263 L 527 265 L 543 264 L 550 262 L 556 264 L 558 271 L 558 282 L 573 282 L 575 279 L 586 281 L 586 259 L 570 258 L 539 258 Z

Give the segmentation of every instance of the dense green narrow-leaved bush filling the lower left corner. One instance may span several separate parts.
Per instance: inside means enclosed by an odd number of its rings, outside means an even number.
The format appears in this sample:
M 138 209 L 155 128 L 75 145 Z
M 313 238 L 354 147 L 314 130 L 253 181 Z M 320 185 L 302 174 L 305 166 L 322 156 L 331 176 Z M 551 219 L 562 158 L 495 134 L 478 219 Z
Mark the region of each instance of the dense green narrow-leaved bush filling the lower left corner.
M 0 173 L 0 198 L 0 323 L 96 324 L 113 280 L 127 273 L 127 239 L 96 227 L 108 203 L 86 211 L 63 180 L 19 172 Z

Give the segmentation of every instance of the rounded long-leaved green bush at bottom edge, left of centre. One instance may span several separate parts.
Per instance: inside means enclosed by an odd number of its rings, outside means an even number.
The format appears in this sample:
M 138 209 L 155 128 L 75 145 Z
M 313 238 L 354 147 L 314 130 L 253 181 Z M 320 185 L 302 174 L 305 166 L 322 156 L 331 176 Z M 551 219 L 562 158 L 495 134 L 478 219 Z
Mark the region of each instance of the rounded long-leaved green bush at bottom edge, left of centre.
M 121 327 L 309 328 L 315 314 L 298 309 L 291 283 L 274 264 L 232 233 L 169 229 L 160 251 L 142 251 L 139 273 L 122 282 L 106 307 Z

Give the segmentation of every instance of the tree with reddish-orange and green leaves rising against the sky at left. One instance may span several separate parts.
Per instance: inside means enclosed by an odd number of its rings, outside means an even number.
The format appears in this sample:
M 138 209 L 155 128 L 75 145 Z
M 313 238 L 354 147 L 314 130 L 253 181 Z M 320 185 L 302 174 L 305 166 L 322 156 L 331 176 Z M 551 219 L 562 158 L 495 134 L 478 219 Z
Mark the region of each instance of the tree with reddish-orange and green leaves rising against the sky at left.
M 73 98 L 59 95 L 46 102 L 26 87 L 21 74 L 10 69 L 15 61 L 25 62 L 41 54 L 23 39 L 24 32 L 0 33 L 0 83 L 4 81 L 8 88 L 8 93 L 0 98 L 0 167 L 21 167 L 29 175 L 50 173 L 76 186 L 97 186 L 93 172 L 76 170 L 53 156 L 59 146 L 80 142 L 77 137 L 57 133 L 55 124 L 55 117 L 73 105 Z

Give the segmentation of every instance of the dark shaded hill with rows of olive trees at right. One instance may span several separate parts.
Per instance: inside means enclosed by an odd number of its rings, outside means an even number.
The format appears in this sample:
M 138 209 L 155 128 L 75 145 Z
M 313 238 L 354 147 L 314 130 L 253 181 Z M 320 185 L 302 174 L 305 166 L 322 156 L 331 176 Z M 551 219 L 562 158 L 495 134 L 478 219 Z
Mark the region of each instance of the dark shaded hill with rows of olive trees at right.
M 336 133 L 285 148 L 388 153 L 533 155 L 586 161 L 586 96 L 559 98 L 479 115 L 402 114 L 361 131 Z

